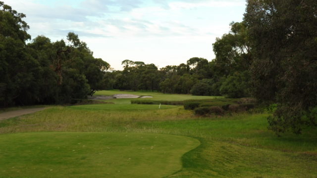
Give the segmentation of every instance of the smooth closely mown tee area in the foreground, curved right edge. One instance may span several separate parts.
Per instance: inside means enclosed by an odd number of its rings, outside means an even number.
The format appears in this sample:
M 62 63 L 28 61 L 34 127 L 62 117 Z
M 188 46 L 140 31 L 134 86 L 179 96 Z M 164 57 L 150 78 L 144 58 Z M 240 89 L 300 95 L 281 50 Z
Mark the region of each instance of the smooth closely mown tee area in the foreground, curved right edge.
M 198 145 L 167 134 L 2 134 L 0 178 L 161 178 Z

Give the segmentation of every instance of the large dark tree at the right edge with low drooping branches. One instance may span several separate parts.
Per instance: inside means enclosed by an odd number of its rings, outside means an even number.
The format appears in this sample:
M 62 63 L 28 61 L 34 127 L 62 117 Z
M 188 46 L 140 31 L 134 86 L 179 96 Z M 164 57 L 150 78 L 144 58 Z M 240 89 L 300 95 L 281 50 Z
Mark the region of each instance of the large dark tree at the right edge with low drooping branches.
M 278 103 L 269 128 L 301 133 L 317 126 L 317 1 L 248 0 L 244 20 L 255 56 L 254 95 Z M 309 119 L 307 119 L 309 118 Z

